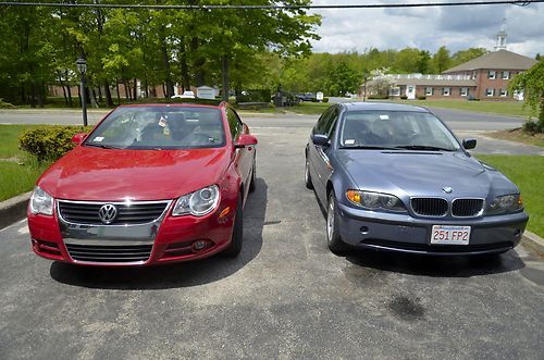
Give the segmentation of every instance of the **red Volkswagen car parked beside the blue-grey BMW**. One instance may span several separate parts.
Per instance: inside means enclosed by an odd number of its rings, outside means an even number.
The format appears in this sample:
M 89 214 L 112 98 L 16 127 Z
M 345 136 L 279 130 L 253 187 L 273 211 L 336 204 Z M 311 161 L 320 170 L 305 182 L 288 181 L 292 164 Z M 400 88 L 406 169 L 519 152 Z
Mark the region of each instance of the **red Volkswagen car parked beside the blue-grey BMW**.
M 30 198 L 38 256 L 126 266 L 240 252 L 257 139 L 227 103 L 119 107 L 73 141 Z

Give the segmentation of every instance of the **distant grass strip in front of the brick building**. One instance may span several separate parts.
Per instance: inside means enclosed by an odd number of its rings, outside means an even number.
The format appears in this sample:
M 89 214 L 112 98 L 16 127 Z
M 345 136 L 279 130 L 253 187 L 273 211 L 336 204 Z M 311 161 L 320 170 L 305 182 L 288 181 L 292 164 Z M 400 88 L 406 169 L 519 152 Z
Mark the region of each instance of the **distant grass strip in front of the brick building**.
M 395 100 L 419 107 L 447 108 L 473 112 L 487 112 L 514 116 L 536 116 L 531 109 L 523 109 L 522 101 L 468 101 L 468 100 Z

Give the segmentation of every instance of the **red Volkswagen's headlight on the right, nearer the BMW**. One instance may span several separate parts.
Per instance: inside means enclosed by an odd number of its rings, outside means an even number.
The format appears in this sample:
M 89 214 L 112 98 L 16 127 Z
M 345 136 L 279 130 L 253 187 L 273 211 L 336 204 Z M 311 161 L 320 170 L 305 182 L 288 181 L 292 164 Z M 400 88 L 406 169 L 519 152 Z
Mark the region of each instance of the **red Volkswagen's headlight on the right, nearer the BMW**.
M 181 216 L 191 214 L 203 216 L 212 212 L 219 203 L 219 187 L 217 185 L 205 187 L 195 193 L 177 199 L 172 215 Z

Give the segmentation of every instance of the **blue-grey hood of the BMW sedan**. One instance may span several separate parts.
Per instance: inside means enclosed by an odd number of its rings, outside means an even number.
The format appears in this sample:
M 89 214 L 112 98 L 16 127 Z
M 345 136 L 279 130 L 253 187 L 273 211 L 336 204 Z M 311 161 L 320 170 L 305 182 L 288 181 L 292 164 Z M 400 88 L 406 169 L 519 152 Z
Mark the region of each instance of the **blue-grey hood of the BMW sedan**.
M 517 191 L 503 174 L 463 152 L 339 150 L 338 161 L 360 189 L 398 196 L 486 197 Z

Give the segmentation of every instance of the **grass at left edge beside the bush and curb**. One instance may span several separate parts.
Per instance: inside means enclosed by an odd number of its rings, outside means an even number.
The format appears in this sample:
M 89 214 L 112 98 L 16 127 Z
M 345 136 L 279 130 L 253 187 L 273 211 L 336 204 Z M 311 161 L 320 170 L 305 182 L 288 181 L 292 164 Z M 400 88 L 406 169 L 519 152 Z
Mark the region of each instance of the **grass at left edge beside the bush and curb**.
M 18 136 L 37 126 L 40 125 L 0 125 L 0 201 L 32 190 L 49 166 L 18 149 Z

